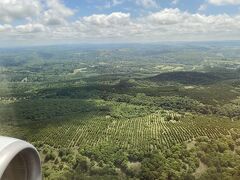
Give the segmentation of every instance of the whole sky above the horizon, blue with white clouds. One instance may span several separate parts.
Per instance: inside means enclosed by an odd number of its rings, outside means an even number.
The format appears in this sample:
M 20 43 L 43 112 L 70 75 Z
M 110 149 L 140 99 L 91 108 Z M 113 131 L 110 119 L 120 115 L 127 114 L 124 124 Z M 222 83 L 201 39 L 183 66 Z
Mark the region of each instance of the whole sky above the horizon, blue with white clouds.
M 0 45 L 240 40 L 240 0 L 0 0 Z

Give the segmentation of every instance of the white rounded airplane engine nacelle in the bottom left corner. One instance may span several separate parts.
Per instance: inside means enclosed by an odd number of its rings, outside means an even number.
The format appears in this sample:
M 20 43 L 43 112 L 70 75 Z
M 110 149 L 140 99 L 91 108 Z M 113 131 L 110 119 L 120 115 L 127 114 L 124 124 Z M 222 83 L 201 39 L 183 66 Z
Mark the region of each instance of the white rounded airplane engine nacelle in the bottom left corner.
M 0 179 L 41 180 L 36 148 L 25 141 L 0 136 Z

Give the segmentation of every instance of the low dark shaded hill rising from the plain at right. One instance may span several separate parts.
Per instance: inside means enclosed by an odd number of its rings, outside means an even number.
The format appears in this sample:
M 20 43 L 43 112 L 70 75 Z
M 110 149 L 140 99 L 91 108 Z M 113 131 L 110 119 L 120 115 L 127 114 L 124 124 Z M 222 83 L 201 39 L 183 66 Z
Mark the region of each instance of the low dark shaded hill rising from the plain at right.
M 168 72 L 148 78 L 151 81 L 174 81 L 181 84 L 211 84 L 221 80 L 212 73 L 203 72 Z

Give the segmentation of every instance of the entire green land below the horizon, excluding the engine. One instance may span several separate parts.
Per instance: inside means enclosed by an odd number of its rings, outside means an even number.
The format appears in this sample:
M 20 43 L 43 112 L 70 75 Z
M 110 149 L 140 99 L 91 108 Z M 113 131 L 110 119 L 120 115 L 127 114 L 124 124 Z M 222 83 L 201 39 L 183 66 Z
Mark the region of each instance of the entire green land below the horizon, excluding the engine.
M 240 179 L 240 50 L 229 43 L 0 50 L 0 135 L 44 179 Z

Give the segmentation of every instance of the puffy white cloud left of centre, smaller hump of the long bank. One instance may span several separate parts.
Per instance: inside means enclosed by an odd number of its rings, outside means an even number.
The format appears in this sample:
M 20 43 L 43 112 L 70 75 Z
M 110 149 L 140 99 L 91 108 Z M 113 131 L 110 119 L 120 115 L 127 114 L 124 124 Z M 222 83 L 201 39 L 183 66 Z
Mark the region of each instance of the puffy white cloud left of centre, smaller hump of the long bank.
M 109 15 L 95 14 L 73 23 L 73 34 L 78 38 L 95 40 L 127 39 L 138 33 L 140 26 L 133 22 L 128 13 L 114 12 Z M 70 30 L 70 29 L 68 29 Z

